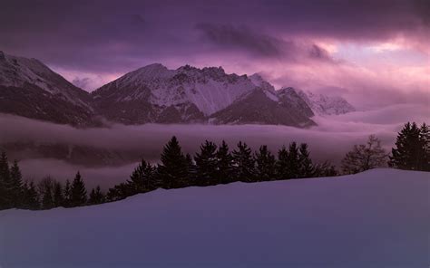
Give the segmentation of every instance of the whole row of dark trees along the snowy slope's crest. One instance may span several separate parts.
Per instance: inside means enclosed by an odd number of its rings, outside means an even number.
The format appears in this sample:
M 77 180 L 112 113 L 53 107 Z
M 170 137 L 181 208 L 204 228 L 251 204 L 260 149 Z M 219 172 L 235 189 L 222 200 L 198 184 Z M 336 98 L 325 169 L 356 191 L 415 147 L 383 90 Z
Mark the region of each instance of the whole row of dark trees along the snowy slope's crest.
M 423 124 L 406 123 L 398 133 L 391 156 L 375 136 L 366 144 L 355 145 L 342 160 L 343 174 L 353 174 L 386 165 L 392 168 L 430 171 L 429 129 Z M 134 168 L 130 179 L 103 193 L 100 187 L 87 192 L 83 177 L 76 173 L 64 184 L 53 177 L 39 183 L 24 181 L 17 161 L 9 164 L 5 152 L 0 157 L 0 210 L 12 207 L 50 209 L 112 202 L 157 188 L 206 187 L 231 182 L 259 182 L 302 177 L 332 177 L 339 175 L 328 162 L 315 164 L 306 143 L 291 142 L 273 154 L 267 146 L 253 152 L 239 141 L 232 151 L 222 141 L 220 145 L 206 140 L 191 158 L 185 154 L 176 137 L 164 146 L 160 164 L 145 161 Z

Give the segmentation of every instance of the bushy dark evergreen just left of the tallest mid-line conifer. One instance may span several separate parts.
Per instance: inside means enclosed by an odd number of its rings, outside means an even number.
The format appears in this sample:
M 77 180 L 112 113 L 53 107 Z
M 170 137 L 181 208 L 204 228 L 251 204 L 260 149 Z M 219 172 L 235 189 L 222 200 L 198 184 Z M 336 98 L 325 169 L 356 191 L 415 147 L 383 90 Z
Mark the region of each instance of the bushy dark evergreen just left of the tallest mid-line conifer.
M 158 187 L 155 177 L 155 168 L 142 159 L 137 168 L 134 168 L 130 180 L 127 181 L 133 194 L 149 192 Z

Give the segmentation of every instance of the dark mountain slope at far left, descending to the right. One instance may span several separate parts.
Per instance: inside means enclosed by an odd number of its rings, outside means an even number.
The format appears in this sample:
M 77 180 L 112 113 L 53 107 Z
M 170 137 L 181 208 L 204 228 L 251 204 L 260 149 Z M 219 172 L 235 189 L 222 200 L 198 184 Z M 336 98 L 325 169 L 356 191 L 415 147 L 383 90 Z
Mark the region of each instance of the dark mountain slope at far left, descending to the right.
M 0 112 L 93 125 L 92 97 L 44 63 L 0 52 Z

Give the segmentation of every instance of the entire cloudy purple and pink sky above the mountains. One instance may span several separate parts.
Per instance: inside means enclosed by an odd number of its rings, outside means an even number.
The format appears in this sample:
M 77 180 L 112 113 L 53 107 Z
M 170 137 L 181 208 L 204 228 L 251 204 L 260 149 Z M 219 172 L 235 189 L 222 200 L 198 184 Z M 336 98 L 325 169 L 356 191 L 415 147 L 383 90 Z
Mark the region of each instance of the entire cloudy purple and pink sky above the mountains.
M 152 62 L 429 105 L 430 1 L 2 1 L 0 50 L 92 91 Z

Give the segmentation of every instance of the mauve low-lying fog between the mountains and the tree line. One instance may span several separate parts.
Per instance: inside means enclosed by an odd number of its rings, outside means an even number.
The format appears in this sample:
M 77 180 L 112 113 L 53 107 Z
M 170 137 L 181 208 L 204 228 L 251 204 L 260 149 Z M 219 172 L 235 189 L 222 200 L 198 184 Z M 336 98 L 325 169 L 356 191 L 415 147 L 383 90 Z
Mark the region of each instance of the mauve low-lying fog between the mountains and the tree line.
M 375 134 L 383 145 L 392 148 L 396 132 L 408 120 L 418 123 L 429 120 L 429 108 L 416 105 L 396 105 L 380 110 L 357 111 L 341 116 L 314 120 L 317 127 L 296 129 L 269 125 L 157 125 L 142 126 L 112 125 L 105 129 L 74 129 L 69 126 L 29 120 L 11 115 L 0 116 L 0 146 L 11 142 L 61 143 L 122 151 L 135 151 L 142 157 L 156 162 L 162 146 L 176 135 L 184 151 L 194 153 L 205 139 L 220 143 L 225 139 L 230 148 L 239 140 L 252 148 L 266 144 L 275 153 L 282 145 L 295 140 L 306 142 L 311 157 L 316 162 L 340 162 L 354 144 L 363 143 L 368 135 Z M 23 158 L 20 166 L 24 177 L 38 180 L 51 175 L 59 180 L 73 178 L 77 170 L 83 175 L 88 187 L 97 184 L 110 187 L 127 179 L 135 163 L 121 167 L 91 168 L 73 165 L 64 159 Z M 137 160 L 137 159 L 136 159 Z

